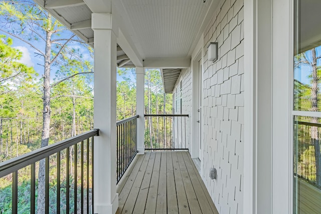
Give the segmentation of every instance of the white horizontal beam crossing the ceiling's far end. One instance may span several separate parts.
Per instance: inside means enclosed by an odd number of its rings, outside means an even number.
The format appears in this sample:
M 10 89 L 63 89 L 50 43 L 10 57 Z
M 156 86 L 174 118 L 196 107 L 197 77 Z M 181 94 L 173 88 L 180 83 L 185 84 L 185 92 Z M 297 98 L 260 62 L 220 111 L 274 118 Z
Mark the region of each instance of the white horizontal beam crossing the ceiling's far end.
M 189 68 L 191 65 L 190 58 L 160 58 L 160 59 L 145 59 L 145 68 L 162 68 L 162 69 L 178 69 L 178 68 Z

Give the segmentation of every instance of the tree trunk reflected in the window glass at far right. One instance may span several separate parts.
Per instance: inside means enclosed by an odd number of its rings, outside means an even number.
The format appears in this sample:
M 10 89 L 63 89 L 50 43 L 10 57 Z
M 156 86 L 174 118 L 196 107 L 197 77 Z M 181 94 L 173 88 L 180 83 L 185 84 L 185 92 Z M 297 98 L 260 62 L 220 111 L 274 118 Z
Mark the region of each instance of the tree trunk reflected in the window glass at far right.
M 317 77 L 317 66 L 316 66 L 316 52 L 315 48 L 311 50 L 312 52 L 312 111 L 318 111 L 317 109 L 317 92 L 318 92 L 318 77 Z M 317 123 L 317 117 L 312 118 L 312 123 Z M 320 144 L 318 137 L 318 128 L 316 126 L 311 127 L 311 141 L 314 146 L 314 156 L 315 156 L 315 168 L 316 168 L 316 183 L 321 185 L 321 154 L 320 154 Z

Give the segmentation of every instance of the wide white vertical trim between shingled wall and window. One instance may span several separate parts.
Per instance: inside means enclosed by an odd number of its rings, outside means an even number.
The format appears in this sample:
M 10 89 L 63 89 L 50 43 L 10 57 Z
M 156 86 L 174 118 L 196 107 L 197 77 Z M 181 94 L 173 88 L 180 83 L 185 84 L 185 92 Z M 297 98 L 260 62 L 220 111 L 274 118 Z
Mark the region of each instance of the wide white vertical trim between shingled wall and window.
M 291 11 L 290 0 L 244 0 L 243 213 L 292 213 Z

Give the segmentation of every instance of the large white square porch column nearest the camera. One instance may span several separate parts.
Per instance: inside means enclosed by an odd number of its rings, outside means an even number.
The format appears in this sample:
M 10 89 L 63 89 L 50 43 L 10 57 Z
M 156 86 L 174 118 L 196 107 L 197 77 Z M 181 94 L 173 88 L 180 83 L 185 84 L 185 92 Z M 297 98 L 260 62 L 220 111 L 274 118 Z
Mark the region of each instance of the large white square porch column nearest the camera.
M 94 213 L 115 213 L 116 194 L 116 37 L 111 14 L 92 14 L 94 30 Z

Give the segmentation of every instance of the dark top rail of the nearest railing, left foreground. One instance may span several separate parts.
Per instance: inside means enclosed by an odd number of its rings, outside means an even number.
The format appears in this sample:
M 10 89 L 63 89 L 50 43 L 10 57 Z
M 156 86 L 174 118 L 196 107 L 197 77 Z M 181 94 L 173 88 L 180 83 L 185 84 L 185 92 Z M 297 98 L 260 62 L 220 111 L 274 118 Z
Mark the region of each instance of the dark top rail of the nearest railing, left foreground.
M 87 131 L 83 134 L 62 140 L 60 142 L 45 146 L 35 151 L 28 152 L 26 154 L 20 155 L 18 157 L 6 160 L 0 163 L 0 177 L 6 176 L 12 172 L 15 172 L 21 168 L 24 168 L 30 164 L 33 164 L 45 157 L 48 157 L 52 154 L 55 154 L 69 146 L 72 146 L 76 143 L 79 143 L 85 139 L 88 139 L 92 136 L 98 136 L 99 129 L 93 129 Z

